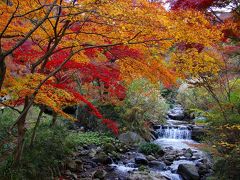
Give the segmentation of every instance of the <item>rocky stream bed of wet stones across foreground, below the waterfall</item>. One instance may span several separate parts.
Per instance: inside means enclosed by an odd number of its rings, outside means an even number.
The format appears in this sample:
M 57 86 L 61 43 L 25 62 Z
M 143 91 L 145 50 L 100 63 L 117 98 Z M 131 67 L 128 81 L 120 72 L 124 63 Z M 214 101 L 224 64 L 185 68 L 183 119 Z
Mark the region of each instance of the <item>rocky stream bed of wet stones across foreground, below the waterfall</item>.
M 112 153 L 106 153 L 104 148 L 86 147 L 66 161 L 62 174 L 66 179 L 165 180 L 180 179 L 179 175 L 183 179 L 204 179 L 212 172 L 209 161 L 190 148 L 166 147 L 163 156 L 144 155 L 131 148 L 125 150 L 116 151 L 119 159 L 114 160 Z M 97 152 L 93 158 L 89 156 L 91 152 Z

